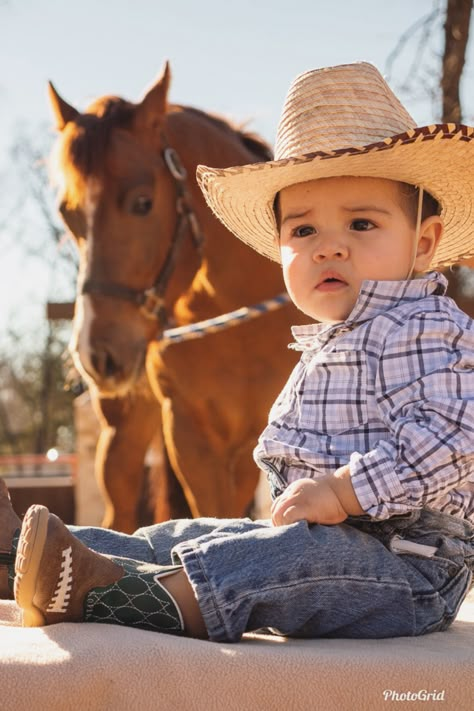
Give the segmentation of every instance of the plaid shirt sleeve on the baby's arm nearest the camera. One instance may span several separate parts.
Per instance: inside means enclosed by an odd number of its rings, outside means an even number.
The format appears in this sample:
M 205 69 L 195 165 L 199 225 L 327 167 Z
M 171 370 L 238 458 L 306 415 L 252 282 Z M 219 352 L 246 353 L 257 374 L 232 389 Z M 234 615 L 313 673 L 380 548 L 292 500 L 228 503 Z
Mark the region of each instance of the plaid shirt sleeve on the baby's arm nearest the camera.
M 375 390 L 390 435 L 350 459 L 362 508 L 384 519 L 429 506 L 474 472 L 474 331 L 449 312 L 389 332 Z

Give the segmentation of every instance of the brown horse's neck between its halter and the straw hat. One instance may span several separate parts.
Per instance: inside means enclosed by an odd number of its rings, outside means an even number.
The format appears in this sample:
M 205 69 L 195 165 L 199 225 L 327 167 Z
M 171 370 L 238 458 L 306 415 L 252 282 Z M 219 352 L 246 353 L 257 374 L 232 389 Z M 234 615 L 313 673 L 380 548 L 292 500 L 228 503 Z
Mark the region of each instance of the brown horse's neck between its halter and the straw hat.
M 223 311 L 257 303 L 284 290 L 280 267 L 232 235 L 207 207 L 196 182 L 199 164 L 215 168 L 262 160 L 240 134 L 225 130 L 192 110 L 171 112 L 165 128 L 188 173 L 193 207 L 204 235 L 203 262 L 186 301 L 204 311 Z M 204 304 L 207 303 L 207 306 Z

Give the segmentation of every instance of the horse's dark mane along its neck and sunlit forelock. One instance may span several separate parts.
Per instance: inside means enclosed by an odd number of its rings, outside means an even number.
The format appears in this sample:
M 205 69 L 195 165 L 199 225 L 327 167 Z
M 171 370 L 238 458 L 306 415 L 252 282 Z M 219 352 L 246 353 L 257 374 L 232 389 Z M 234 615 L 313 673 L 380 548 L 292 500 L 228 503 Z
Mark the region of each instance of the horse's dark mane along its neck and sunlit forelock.
M 244 130 L 243 125 L 189 106 L 173 105 L 170 108 L 193 114 L 199 119 L 211 122 L 229 136 L 236 136 L 257 161 L 273 158 L 268 143 L 256 133 Z M 61 176 L 62 182 L 67 185 L 65 198 L 71 207 L 78 205 L 84 183 L 89 178 L 100 177 L 112 131 L 117 128 L 130 129 L 135 110 L 136 104 L 118 96 L 105 96 L 66 125 L 53 154 L 52 167 L 56 182 L 58 176 Z

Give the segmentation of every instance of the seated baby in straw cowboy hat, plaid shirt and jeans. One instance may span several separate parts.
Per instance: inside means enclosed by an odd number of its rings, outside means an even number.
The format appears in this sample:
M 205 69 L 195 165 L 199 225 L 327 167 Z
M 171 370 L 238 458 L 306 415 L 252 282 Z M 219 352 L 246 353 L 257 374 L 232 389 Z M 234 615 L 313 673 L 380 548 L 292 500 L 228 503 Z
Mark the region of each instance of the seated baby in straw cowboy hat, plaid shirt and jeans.
M 3 595 L 14 578 L 24 624 L 214 641 L 449 626 L 474 568 L 474 325 L 428 270 L 474 254 L 473 136 L 417 127 L 356 63 L 297 77 L 275 161 L 198 169 L 216 215 L 281 262 L 311 321 L 293 329 L 301 359 L 255 450 L 271 520 L 126 536 L 33 506 L 20 533 L 0 491 Z

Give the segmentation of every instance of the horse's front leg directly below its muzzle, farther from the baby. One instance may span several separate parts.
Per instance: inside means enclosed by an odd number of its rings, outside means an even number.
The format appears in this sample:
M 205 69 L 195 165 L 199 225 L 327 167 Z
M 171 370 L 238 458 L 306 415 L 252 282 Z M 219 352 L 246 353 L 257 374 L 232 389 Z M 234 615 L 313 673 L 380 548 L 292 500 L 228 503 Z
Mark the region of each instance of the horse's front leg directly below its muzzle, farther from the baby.
M 121 398 L 96 395 L 93 404 L 101 423 L 95 464 L 105 501 L 102 525 L 133 533 L 138 527 L 145 455 L 161 429 L 160 406 L 139 391 Z

